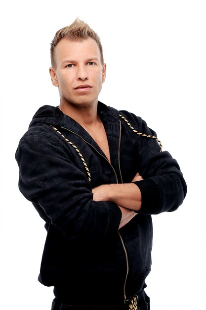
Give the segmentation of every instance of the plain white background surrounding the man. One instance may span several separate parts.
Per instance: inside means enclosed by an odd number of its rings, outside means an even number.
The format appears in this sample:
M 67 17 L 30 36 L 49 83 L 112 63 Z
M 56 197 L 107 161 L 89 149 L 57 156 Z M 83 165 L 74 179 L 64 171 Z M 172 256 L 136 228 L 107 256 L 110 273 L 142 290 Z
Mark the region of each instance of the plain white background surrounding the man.
M 14 155 L 36 110 L 58 105 L 50 42 L 76 17 L 101 37 L 99 100 L 145 119 L 178 160 L 183 205 L 153 216 L 152 310 L 206 309 L 206 5 L 201 0 L 7 0 L 0 4 L 0 309 L 50 310 L 38 280 L 43 220 L 18 191 Z M 3 306 L 2 306 L 3 304 Z

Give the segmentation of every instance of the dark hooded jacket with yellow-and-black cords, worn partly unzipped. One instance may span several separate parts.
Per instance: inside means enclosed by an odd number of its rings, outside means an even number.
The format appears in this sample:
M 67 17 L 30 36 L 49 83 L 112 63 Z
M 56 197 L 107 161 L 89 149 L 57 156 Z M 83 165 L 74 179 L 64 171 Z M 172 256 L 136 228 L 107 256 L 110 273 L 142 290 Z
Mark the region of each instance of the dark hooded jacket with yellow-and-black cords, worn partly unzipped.
M 151 270 L 151 214 L 176 210 L 187 187 L 177 161 L 160 152 L 145 121 L 100 102 L 98 114 L 111 164 L 80 124 L 58 107 L 44 105 L 16 152 L 19 189 L 47 230 L 39 281 L 67 288 L 68 294 L 100 292 L 126 300 L 144 289 Z M 136 172 L 143 177 L 134 182 L 142 207 L 118 230 L 120 208 L 93 201 L 91 189 L 130 183 Z

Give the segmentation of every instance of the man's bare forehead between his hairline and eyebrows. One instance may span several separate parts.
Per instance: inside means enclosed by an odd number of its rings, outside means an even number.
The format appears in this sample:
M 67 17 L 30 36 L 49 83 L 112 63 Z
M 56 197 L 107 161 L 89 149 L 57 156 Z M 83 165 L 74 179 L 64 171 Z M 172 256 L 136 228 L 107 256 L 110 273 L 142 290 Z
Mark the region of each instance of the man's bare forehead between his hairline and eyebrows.
M 83 61 L 92 57 L 97 57 L 99 61 L 101 57 L 98 45 L 92 38 L 81 41 L 64 38 L 55 47 L 57 65 L 66 59 Z

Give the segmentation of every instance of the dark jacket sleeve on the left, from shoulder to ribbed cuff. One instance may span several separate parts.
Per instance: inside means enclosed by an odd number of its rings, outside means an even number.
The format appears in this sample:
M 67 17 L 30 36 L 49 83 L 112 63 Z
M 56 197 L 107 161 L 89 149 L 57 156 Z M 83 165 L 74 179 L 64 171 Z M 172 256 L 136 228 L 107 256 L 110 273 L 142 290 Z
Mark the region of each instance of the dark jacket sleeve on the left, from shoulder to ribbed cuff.
M 67 239 L 97 238 L 118 230 L 120 208 L 110 202 L 92 201 L 85 173 L 56 140 L 42 133 L 25 134 L 16 160 L 19 190 Z

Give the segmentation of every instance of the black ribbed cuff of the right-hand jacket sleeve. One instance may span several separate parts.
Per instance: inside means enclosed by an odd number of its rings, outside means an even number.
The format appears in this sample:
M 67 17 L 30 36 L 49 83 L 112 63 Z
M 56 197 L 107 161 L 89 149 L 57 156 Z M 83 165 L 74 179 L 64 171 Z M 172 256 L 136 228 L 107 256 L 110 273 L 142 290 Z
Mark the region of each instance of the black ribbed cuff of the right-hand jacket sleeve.
M 137 213 L 157 214 L 160 209 L 160 191 L 152 179 L 132 182 L 136 184 L 142 195 L 142 206 Z

